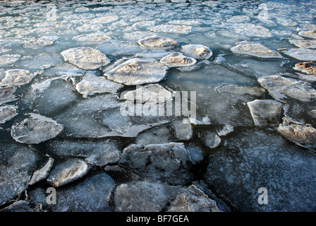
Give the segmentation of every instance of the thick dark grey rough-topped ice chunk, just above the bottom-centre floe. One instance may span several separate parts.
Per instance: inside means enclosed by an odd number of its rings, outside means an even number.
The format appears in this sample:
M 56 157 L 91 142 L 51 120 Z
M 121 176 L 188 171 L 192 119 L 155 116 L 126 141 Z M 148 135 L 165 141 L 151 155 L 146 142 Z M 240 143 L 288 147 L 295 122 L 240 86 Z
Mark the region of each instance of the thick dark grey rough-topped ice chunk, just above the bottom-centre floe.
M 124 148 L 119 162 L 154 181 L 186 184 L 192 178 L 189 168 L 193 160 L 183 143 L 151 144 L 145 147 L 132 144 Z

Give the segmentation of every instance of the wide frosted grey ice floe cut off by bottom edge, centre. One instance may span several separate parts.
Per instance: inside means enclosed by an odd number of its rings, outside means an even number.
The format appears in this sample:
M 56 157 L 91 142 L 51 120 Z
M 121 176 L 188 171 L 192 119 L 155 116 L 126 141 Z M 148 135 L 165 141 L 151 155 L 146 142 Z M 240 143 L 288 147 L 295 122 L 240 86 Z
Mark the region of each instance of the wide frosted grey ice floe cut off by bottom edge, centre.
M 137 196 L 138 198 L 132 198 Z M 169 203 L 169 201 L 172 201 Z M 116 211 L 220 212 L 217 203 L 197 186 L 171 186 L 162 182 L 128 182 L 114 191 Z

